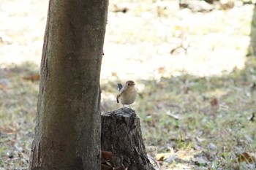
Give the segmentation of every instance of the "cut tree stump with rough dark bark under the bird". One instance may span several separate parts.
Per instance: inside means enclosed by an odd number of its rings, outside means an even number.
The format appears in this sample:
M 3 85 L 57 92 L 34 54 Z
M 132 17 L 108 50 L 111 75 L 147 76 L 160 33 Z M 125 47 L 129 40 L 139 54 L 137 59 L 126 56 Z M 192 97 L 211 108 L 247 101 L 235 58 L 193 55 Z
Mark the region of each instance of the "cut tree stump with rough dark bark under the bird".
M 113 167 L 129 170 L 154 169 L 146 156 L 140 130 L 140 119 L 129 108 L 117 109 L 102 115 L 102 150 L 115 154 Z

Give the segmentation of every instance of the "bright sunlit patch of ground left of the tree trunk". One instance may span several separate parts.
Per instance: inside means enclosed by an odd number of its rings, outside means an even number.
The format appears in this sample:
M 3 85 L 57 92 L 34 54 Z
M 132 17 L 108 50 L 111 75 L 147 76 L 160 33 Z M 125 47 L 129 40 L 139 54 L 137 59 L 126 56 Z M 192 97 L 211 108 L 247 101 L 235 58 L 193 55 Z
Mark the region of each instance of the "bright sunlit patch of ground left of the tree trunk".
M 48 1 L 2 0 L 0 5 L 0 63 L 39 64 Z

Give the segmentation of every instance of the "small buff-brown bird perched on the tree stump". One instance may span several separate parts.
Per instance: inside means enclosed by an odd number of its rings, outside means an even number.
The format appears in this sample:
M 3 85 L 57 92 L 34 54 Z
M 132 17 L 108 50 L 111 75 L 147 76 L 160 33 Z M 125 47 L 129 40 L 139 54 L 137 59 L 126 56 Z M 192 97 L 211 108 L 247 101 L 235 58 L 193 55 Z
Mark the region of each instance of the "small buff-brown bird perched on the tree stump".
M 135 89 L 135 82 L 133 82 L 132 80 L 127 81 L 124 87 L 120 83 L 118 83 L 118 89 L 119 93 L 116 96 L 116 101 L 117 103 L 119 103 L 120 101 L 120 103 L 123 104 L 123 107 L 124 104 L 132 104 L 138 96 L 138 93 Z

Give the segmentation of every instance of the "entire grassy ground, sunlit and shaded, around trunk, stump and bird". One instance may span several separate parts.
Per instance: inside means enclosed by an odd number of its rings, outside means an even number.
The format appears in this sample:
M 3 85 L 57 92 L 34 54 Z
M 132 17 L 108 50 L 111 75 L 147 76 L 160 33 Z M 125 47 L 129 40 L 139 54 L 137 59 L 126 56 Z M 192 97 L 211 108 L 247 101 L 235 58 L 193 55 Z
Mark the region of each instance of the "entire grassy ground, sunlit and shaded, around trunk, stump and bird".
M 27 169 L 48 1 L 0 2 L 0 170 Z M 110 0 L 102 112 L 121 107 L 117 82 L 135 80 L 132 109 L 161 169 L 256 169 L 254 5 L 235 2 Z

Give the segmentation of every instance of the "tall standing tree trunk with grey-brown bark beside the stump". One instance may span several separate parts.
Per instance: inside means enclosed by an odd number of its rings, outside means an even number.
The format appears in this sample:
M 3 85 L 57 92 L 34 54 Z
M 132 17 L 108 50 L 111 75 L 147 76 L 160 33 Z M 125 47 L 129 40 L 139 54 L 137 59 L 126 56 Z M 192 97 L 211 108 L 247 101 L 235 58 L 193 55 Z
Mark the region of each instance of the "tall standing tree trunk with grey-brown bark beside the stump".
M 100 169 L 108 0 L 50 0 L 29 169 Z

